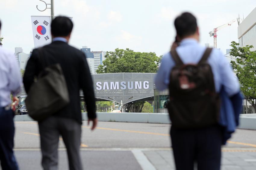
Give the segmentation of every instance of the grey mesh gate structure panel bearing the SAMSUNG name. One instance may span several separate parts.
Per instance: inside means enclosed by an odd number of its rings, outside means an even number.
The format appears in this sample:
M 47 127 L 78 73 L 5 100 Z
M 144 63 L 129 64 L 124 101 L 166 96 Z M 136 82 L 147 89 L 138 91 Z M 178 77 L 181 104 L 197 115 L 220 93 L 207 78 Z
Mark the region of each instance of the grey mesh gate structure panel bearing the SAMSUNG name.
M 154 96 L 155 73 L 93 74 L 95 98 L 128 103 Z

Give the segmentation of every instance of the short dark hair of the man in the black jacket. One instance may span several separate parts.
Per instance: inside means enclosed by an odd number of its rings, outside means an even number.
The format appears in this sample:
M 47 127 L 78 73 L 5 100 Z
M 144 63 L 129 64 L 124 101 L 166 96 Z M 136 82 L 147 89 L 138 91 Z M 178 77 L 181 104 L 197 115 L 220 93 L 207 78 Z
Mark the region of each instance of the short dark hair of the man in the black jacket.
M 73 29 L 73 23 L 68 17 L 58 16 L 52 20 L 51 32 L 55 37 L 67 36 Z

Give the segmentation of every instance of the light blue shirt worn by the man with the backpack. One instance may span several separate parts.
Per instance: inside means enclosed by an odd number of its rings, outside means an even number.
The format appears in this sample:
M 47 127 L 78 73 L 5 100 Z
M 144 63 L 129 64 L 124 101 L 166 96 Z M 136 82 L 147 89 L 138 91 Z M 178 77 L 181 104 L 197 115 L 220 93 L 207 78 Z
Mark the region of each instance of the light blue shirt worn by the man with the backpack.
M 183 39 L 180 46 L 176 48 L 176 51 L 184 64 L 198 63 L 205 50 L 206 47 L 201 46 L 193 38 Z M 225 59 L 220 50 L 212 50 L 208 58 L 208 63 L 211 65 L 217 93 L 220 92 L 222 85 L 229 96 L 233 96 L 240 91 L 238 79 L 233 73 L 231 65 L 228 63 L 227 59 Z M 155 77 L 155 85 L 158 90 L 165 90 L 168 88 L 170 71 L 174 65 L 175 62 L 170 53 L 165 54 Z

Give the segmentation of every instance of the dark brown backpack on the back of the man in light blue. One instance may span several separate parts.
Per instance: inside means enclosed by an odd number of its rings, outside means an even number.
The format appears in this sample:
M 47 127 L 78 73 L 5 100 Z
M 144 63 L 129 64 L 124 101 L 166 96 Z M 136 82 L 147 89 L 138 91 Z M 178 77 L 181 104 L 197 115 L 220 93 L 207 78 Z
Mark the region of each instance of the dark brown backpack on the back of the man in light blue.
M 176 65 L 170 73 L 168 111 L 172 126 L 194 129 L 217 124 L 220 98 L 207 59 L 207 48 L 198 64 L 184 64 L 176 50 L 170 51 Z

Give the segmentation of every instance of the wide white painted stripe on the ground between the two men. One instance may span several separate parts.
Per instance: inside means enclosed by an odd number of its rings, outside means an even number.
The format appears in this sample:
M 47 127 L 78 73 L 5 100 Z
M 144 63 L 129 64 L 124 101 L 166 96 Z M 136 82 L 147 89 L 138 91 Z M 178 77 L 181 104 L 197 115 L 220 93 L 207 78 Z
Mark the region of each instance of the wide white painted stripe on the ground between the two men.
M 135 149 L 132 153 L 143 170 L 156 170 L 141 150 Z

